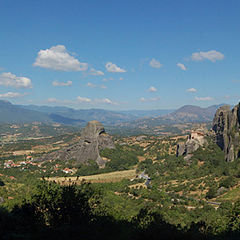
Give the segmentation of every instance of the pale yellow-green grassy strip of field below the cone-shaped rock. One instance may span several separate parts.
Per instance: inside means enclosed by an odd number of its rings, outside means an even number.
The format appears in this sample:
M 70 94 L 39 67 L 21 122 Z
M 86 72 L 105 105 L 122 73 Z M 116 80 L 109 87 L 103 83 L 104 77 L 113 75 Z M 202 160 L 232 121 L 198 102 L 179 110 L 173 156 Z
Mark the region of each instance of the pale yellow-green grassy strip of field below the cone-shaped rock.
M 91 183 L 119 182 L 122 179 L 132 179 L 136 177 L 136 170 L 116 171 L 82 177 L 51 177 L 49 181 L 56 181 L 60 184 L 69 184 L 74 182 L 80 184 L 83 180 Z

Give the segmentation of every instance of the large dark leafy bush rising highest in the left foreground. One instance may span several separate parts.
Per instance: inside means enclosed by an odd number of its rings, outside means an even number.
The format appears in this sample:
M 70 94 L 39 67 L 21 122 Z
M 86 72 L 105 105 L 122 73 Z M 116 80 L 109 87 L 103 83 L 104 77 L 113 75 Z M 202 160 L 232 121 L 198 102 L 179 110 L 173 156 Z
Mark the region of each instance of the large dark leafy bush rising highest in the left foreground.
M 74 185 L 60 186 L 42 182 L 21 208 L 26 209 L 26 214 L 33 211 L 35 222 L 44 222 L 49 226 L 70 224 L 76 220 L 86 221 L 90 217 L 89 196 L 81 190 Z M 13 213 L 18 211 L 19 207 L 13 209 Z

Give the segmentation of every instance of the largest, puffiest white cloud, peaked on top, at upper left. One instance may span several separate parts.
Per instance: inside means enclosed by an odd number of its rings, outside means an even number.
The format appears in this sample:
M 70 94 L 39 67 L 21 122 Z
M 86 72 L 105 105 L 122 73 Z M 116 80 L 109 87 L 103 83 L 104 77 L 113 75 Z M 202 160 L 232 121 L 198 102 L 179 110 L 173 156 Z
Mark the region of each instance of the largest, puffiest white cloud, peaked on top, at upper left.
M 60 71 L 85 71 L 88 68 L 87 63 L 81 63 L 71 56 L 64 45 L 40 50 L 33 65 Z

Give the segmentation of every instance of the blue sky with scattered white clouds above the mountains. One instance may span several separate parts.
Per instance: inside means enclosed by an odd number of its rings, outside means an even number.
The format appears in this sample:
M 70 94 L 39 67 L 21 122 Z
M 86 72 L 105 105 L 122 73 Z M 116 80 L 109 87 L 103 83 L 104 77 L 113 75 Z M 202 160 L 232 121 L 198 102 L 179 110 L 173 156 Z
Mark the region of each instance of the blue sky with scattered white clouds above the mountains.
M 239 102 L 238 0 L 0 0 L 0 99 L 74 108 Z

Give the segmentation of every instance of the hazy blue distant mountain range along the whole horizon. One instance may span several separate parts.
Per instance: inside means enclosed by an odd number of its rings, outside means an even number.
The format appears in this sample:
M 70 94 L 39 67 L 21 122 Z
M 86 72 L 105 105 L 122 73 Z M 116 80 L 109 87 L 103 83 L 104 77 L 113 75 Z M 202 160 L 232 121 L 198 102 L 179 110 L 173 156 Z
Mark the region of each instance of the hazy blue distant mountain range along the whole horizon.
M 50 107 L 36 105 L 14 105 L 0 100 L 0 123 L 60 123 L 83 125 L 91 120 L 98 120 L 105 125 L 140 126 L 147 124 L 174 124 L 186 122 L 212 121 L 217 108 L 186 105 L 177 110 L 131 110 L 109 111 L 104 109 L 73 109 L 68 107 Z

